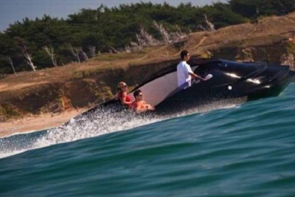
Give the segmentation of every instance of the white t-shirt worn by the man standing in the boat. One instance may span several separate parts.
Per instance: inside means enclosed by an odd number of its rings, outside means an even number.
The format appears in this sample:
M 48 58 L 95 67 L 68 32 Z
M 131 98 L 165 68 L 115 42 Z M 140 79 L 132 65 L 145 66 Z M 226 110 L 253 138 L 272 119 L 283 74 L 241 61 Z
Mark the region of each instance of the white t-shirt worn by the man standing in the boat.
M 177 65 L 178 87 L 191 86 L 191 75 L 189 75 L 189 73 L 193 73 L 193 71 L 191 70 L 191 66 L 188 65 L 186 61 L 179 62 L 179 64 Z

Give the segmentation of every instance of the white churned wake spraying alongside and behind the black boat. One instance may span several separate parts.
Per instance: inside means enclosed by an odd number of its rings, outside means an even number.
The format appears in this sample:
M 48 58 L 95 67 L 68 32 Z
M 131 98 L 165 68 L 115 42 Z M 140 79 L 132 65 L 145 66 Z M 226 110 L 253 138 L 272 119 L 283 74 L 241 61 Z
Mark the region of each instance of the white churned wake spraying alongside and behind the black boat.
M 116 131 L 129 130 L 179 116 L 204 113 L 215 109 L 237 107 L 237 105 L 245 101 L 246 98 L 228 99 L 166 116 L 142 116 L 127 112 L 113 113 L 111 110 L 97 110 L 93 112 L 90 117 L 81 116 L 71 119 L 68 124 L 61 127 L 56 127 L 47 131 L 13 135 L 0 139 L 0 159 L 32 149 L 73 142 Z

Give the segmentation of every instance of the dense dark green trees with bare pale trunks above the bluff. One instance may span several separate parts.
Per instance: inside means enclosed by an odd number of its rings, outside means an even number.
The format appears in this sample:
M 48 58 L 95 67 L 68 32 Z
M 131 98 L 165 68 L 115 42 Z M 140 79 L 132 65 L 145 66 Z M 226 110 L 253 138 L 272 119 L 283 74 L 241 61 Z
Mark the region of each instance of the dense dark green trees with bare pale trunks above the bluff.
M 294 0 L 229 0 L 203 7 L 191 3 L 177 7 L 136 3 L 96 10 L 82 9 L 67 19 L 42 18 L 11 24 L 0 32 L 0 74 L 84 61 L 98 52 L 124 49 L 136 42 L 145 29 L 161 40 L 154 21 L 168 31 L 184 32 L 206 26 L 204 14 L 216 29 L 255 20 L 260 16 L 283 15 L 295 10 Z M 30 67 L 31 66 L 31 67 Z

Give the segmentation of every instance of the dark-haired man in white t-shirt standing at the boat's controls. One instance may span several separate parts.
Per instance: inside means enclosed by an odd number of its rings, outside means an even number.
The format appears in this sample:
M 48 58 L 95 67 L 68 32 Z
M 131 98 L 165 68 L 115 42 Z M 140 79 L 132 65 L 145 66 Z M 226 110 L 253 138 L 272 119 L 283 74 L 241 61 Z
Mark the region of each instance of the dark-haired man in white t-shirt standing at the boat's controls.
M 177 65 L 177 82 L 178 87 L 181 90 L 184 90 L 191 86 L 191 78 L 200 78 L 206 81 L 206 78 L 202 78 L 199 75 L 195 74 L 191 70 L 191 66 L 187 64 L 187 61 L 190 60 L 190 54 L 187 50 L 183 50 L 180 53 L 181 61 Z

